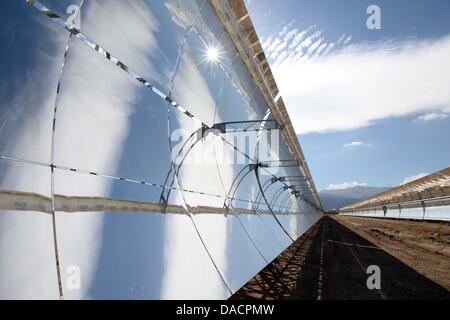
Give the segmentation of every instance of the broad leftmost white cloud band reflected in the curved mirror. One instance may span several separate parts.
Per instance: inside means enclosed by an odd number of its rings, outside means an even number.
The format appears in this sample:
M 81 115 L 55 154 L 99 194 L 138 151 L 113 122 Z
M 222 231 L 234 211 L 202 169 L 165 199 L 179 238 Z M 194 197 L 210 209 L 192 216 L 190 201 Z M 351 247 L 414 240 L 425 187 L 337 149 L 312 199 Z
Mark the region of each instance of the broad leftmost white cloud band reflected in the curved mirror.
M 152 73 L 149 57 L 155 46 L 153 33 L 156 20 L 143 3 L 90 1 L 83 11 L 83 27 L 89 29 L 96 39 L 104 40 L 102 44 L 106 48 L 113 48 L 112 52 L 124 57 L 130 66 L 136 65 Z M 50 48 L 59 44 L 60 50 L 55 50 L 55 54 L 51 49 L 46 48 L 43 52 L 41 48 L 34 48 L 39 70 L 32 70 L 25 81 L 21 79 L 21 94 L 15 95 L 11 116 L 8 116 L 7 123 L 2 124 L 2 131 L 8 129 L 11 136 L 20 137 L 10 140 L 7 146 L 9 154 L 49 163 L 56 82 L 67 35 L 56 37 L 51 33 L 45 36 L 45 44 L 51 43 Z M 138 85 L 78 40 L 73 39 L 70 45 L 57 103 L 56 163 L 88 170 L 95 168 L 99 172 L 114 171 L 129 130 L 128 118 L 133 112 L 132 105 L 138 98 Z M 16 82 L 15 79 L 11 81 Z M 12 121 L 14 118 L 21 121 Z M 88 176 L 84 175 L 77 175 L 74 180 L 67 183 L 56 177 L 55 192 L 101 196 L 107 196 L 110 192 L 110 185 L 105 180 L 89 180 L 88 183 Z M 29 166 L 10 166 L 1 182 L 3 188 L 9 186 L 13 190 L 47 195 L 50 192 L 49 169 L 43 171 Z M 1 217 L 2 229 L 8 228 L 2 232 L 0 254 L 8 259 L 1 259 L 0 294 L 3 295 L 5 289 L 8 290 L 8 297 L 56 298 L 49 216 L 14 215 Z M 85 297 L 96 265 L 101 215 L 72 216 L 70 219 L 58 216 L 57 219 L 59 240 L 63 244 L 60 247 L 63 277 L 64 266 L 68 263 L 82 267 L 82 290 L 66 290 L 66 293 L 69 298 Z M 38 245 L 31 247 L 30 243 Z M 14 246 L 10 247 L 11 244 Z

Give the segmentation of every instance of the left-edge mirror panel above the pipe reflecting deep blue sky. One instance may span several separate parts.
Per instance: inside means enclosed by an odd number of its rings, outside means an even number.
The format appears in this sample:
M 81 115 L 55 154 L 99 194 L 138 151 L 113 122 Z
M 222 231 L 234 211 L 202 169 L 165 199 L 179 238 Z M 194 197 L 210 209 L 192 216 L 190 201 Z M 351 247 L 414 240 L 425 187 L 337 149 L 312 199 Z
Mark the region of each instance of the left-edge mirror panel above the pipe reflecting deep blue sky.
M 6 70 L 2 69 L 0 76 L 0 152 L 48 163 L 57 76 L 68 35 L 48 25 L 47 20 L 28 15 L 21 18 L 21 27 L 10 31 L 8 47 L 2 47 L 5 59 L 0 63 Z M 33 31 L 26 30 L 27 27 Z M 45 35 L 45 39 L 28 44 L 24 34 Z M 0 37 L 4 39 L 3 34 Z M 25 45 L 26 54 L 16 52 L 24 50 Z M 8 64 L 13 64 L 14 69 Z M 35 142 L 39 142 L 39 148 Z

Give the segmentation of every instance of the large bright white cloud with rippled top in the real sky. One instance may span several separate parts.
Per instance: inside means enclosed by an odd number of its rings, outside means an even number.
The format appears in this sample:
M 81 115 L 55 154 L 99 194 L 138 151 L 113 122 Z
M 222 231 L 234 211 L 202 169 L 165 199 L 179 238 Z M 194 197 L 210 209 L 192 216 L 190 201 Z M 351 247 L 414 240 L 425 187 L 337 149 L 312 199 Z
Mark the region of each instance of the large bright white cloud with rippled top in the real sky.
M 297 133 L 354 129 L 418 112 L 440 114 L 421 120 L 445 117 L 450 36 L 348 44 L 352 37 L 342 35 L 308 54 L 322 35 L 314 29 L 276 38 L 266 48 L 271 53 L 284 43 L 276 56 L 286 53 L 272 68 Z

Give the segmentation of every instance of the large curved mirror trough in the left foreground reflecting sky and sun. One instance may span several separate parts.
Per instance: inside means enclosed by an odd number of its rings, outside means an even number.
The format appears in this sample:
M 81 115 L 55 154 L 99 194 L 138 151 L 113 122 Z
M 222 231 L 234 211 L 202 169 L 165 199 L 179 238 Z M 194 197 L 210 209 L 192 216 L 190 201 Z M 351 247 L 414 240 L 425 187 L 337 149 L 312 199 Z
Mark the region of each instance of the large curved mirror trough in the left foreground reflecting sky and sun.
M 240 161 L 231 134 L 195 134 L 189 141 L 201 126 L 195 119 L 211 126 L 267 112 L 208 2 L 41 3 L 64 19 L 69 5 L 81 6 L 83 35 L 127 70 L 25 1 L 3 4 L 0 193 L 10 192 L 4 199 L 17 210 L 0 211 L 0 298 L 59 297 L 52 215 L 27 210 L 14 192 L 38 199 L 165 199 L 184 208 L 231 204 L 228 215 L 56 211 L 65 299 L 227 298 L 317 221 L 320 213 L 308 203 L 281 182 L 268 182 L 272 175 L 301 176 L 301 168 L 260 171 L 259 183 L 250 172 L 256 133 L 239 146 L 249 155 Z M 211 48 L 217 59 L 208 56 Z M 185 141 L 192 157 L 174 164 Z M 275 156 L 292 159 L 280 141 Z M 259 185 L 269 184 L 266 202 Z M 226 202 L 230 190 L 234 200 Z M 233 214 L 233 208 L 260 214 Z

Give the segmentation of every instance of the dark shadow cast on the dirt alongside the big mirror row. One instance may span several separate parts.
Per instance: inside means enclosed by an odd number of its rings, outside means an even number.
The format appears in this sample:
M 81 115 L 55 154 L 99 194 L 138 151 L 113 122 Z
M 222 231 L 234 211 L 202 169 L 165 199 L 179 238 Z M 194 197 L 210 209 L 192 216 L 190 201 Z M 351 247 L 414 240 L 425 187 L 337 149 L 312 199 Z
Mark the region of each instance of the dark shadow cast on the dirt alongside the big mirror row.
M 380 290 L 367 288 L 370 265 L 381 270 Z M 450 292 L 325 216 L 230 299 L 450 299 Z

